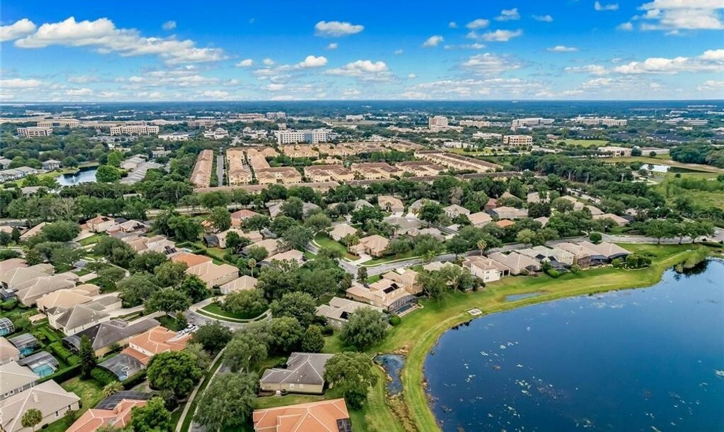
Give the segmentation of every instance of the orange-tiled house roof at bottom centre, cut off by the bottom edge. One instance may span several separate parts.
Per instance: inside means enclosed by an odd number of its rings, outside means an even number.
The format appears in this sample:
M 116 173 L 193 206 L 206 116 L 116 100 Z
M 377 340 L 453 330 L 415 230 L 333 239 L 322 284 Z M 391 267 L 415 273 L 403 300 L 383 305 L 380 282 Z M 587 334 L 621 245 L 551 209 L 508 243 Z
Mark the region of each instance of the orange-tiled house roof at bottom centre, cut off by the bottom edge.
M 254 432 L 350 432 L 345 399 L 254 410 Z

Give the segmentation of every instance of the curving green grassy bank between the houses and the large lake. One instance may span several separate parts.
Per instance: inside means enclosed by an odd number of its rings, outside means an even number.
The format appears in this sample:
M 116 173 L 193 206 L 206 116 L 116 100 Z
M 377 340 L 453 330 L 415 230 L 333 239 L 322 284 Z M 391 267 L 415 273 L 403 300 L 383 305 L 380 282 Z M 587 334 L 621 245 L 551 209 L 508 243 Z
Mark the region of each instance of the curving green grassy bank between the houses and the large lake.
M 466 310 L 478 307 L 484 315 L 512 310 L 529 304 L 550 302 L 570 296 L 594 294 L 603 291 L 613 291 L 627 288 L 640 288 L 651 286 L 660 281 L 662 273 L 668 268 L 683 262 L 694 254 L 691 245 L 624 245 L 632 252 L 653 254 L 654 263 L 651 267 L 642 270 L 617 270 L 613 267 L 602 267 L 582 271 L 578 274 L 567 274 L 561 278 L 552 279 L 547 276 L 538 277 L 510 277 L 502 281 L 490 283 L 487 288 L 476 293 L 455 292 L 448 294 L 438 302 L 423 300 L 424 309 L 417 310 L 403 318 L 403 323 L 392 328 L 386 341 L 374 348 L 375 352 L 403 352 L 407 355 L 407 362 L 402 374 L 403 401 L 395 403 L 395 424 L 390 423 L 390 407 L 371 403 L 363 408 L 366 412 L 366 423 L 371 427 L 363 428 L 367 431 L 437 431 L 437 421 L 429 408 L 425 393 L 423 365 L 427 353 L 433 348 L 442 333 L 448 329 L 471 319 Z M 703 246 L 696 246 L 703 247 Z M 505 302 L 505 296 L 510 294 L 525 294 L 539 292 L 537 296 L 520 299 L 514 302 Z M 340 349 L 338 341 L 332 338 L 325 346 L 325 352 Z M 371 398 L 379 401 L 380 386 L 377 384 L 371 391 Z M 408 428 L 403 428 L 403 423 Z M 383 425 L 380 429 L 379 425 Z

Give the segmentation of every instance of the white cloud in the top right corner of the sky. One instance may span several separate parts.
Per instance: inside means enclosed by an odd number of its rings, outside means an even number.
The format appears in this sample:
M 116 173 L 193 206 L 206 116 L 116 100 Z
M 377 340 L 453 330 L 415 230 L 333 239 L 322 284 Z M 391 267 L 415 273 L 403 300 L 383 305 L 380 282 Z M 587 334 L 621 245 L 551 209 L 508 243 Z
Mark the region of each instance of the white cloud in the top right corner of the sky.
M 633 17 L 642 20 L 641 30 L 722 30 L 724 22 L 721 0 L 654 0 L 639 9 L 644 14 Z M 672 33 L 678 34 L 678 33 Z

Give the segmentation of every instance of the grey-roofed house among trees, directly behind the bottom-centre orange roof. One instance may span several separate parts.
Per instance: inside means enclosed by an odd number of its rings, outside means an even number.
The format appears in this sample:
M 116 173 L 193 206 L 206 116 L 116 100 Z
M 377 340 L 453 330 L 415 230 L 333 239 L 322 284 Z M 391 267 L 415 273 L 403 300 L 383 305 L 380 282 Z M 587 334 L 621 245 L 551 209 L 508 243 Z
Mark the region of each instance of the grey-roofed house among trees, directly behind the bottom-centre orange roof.
M 334 354 L 292 352 L 287 367 L 264 370 L 259 380 L 261 391 L 282 393 L 324 393 L 324 365 Z

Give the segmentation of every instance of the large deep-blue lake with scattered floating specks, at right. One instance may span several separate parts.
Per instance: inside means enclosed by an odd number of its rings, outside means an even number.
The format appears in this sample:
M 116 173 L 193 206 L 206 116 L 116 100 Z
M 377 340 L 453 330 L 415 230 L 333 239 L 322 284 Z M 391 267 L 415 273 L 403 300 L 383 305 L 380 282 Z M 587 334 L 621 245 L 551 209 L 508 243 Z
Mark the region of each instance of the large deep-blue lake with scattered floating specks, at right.
M 724 431 L 724 261 L 480 317 L 425 378 L 444 431 Z

